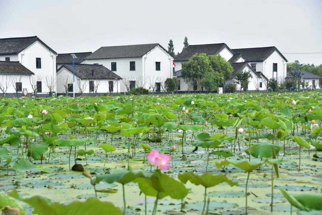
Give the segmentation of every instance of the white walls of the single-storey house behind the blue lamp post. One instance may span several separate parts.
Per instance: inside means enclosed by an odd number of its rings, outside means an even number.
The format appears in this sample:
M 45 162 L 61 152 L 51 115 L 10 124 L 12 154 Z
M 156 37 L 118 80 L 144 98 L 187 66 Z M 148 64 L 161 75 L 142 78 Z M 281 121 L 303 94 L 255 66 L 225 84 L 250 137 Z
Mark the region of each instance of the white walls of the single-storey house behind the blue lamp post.
M 65 68 L 60 69 L 59 71 L 57 71 L 57 93 L 63 93 L 65 92 L 65 87 L 62 84 L 61 80 L 66 80 L 66 77 L 69 78 L 70 83 L 72 84 L 73 82 L 73 74 L 69 71 L 66 70 Z M 84 90 L 83 93 L 89 93 L 90 92 L 90 86 L 89 86 L 89 81 L 90 80 L 84 80 L 87 83 L 87 86 Z M 96 84 L 96 80 L 93 80 L 94 84 Z M 109 92 L 109 79 L 102 79 L 101 82 L 99 83 L 97 92 L 98 93 L 108 93 Z M 113 80 L 114 81 L 114 80 Z M 117 83 L 115 83 L 114 87 L 113 87 L 113 93 L 116 92 L 120 92 L 120 82 L 122 82 L 122 80 L 118 80 Z M 75 93 L 79 93 L 79 87 L 77 84 L 77 77 L 75 77 Z M 72 92 L 70 92 L 72 93 Z

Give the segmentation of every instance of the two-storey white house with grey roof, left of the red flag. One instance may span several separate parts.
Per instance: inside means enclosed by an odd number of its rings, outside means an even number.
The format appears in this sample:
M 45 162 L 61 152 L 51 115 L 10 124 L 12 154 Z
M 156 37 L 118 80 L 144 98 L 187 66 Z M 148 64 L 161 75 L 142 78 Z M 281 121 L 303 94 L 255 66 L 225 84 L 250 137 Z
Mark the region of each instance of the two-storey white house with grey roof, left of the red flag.
M 161 91 L 173 72 L 173 57 L 158 43 L 101 47 L 82 63 L 102 64 L 122 77 L 121 92 L 134 87 Z

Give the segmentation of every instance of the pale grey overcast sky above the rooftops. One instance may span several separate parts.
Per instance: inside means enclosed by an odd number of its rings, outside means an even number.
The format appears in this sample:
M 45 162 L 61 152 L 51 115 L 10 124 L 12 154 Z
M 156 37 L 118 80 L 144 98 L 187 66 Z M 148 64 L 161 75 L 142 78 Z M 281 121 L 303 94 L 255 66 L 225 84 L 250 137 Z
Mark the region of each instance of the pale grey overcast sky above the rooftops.
M 0 38 L 37 35 L 58 53 L 160 43 L 322 52 L 322 0 L 0 0 Z M 322 64 L 319 54 L 285 54 Z

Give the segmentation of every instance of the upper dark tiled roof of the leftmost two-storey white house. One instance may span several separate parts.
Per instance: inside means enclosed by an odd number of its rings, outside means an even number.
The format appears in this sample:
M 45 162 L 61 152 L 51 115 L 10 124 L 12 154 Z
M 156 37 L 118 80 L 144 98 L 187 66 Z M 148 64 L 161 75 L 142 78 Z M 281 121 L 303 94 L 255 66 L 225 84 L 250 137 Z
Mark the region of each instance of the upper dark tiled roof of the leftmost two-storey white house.
M 33 36 L 0 39 L 0 55 L 18 54 L 19 52 L 23 51 L 25 48 L 27 48 L 36 41 L 42 42 L 47 49 L 57 54 L 43 41 L 41 41 L 37 36 Z

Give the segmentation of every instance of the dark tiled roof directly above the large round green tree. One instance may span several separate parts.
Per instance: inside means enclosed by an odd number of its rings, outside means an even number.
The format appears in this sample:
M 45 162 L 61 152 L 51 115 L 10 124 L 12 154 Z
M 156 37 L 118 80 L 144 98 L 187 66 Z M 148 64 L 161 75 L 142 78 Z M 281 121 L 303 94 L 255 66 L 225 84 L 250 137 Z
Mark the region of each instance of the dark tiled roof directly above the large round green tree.
M 215 44 L 202 44 L 202 45 L 189 45 L 180 54 L 175 56 L 175 61 L 188 61 L 195 53 L 205 53 L 207 55 L 217 55 L 224 48 L 231 49 L 225 43 L 215 43 Z M 233 51 L 232 51 L 233 52 Z

